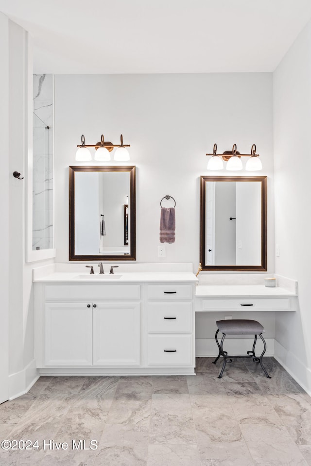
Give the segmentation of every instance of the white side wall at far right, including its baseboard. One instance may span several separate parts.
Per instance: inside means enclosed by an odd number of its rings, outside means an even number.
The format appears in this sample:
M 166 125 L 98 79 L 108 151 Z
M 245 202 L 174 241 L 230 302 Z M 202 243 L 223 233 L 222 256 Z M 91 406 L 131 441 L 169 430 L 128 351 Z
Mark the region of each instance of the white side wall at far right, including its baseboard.
M 311 392 L 311 22 L 274 73 L 276 273 L 298 281 L 299 311 L 276 318 L 276 355 Z

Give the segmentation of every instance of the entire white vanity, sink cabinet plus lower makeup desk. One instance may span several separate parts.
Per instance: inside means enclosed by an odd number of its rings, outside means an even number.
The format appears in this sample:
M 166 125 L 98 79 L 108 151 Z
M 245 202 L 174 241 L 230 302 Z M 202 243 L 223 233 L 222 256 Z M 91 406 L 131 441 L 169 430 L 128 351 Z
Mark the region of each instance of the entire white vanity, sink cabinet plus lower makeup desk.
M 223 318 L 266 319 L 273 355 L 274 313 L 297 306 L 297 283 L 279 276 L 278 286 L 268 288 L 261 274 L 198 279 L 192 264 L 120 264 L 113 275 L 84 270 L 83 264 L 34 269 L 41 374 L 193 375 L 195 355 L 214 355 L 215 321 Z M 228 339 L 233 343 L 242 349 L 248 341 Z

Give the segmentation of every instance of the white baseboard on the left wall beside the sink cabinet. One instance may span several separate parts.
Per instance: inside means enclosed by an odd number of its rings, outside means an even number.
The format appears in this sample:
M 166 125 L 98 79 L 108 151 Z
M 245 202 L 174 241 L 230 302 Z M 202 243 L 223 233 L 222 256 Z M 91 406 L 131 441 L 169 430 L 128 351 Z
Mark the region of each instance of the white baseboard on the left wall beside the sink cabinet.
M 40 377 L 35 359 L 24 369 L 9 375 L 9 400 L 25 395 Z

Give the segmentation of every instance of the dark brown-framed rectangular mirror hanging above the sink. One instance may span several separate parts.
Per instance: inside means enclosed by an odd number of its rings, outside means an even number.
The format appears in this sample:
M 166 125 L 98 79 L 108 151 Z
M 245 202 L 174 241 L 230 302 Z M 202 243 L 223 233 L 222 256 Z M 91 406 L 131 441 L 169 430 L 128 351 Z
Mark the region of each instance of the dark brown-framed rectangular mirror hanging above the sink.
M 135 166 L 69 166 L 69 260 L 135 260 Z

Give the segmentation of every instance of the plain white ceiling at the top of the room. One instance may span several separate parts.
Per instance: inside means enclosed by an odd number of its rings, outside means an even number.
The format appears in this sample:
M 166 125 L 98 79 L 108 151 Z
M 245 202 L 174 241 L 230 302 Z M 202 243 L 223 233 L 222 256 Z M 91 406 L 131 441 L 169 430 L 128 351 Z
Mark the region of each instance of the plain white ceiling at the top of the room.
M 0 0 L 35 73 L 274 71 L 311 0 Z

